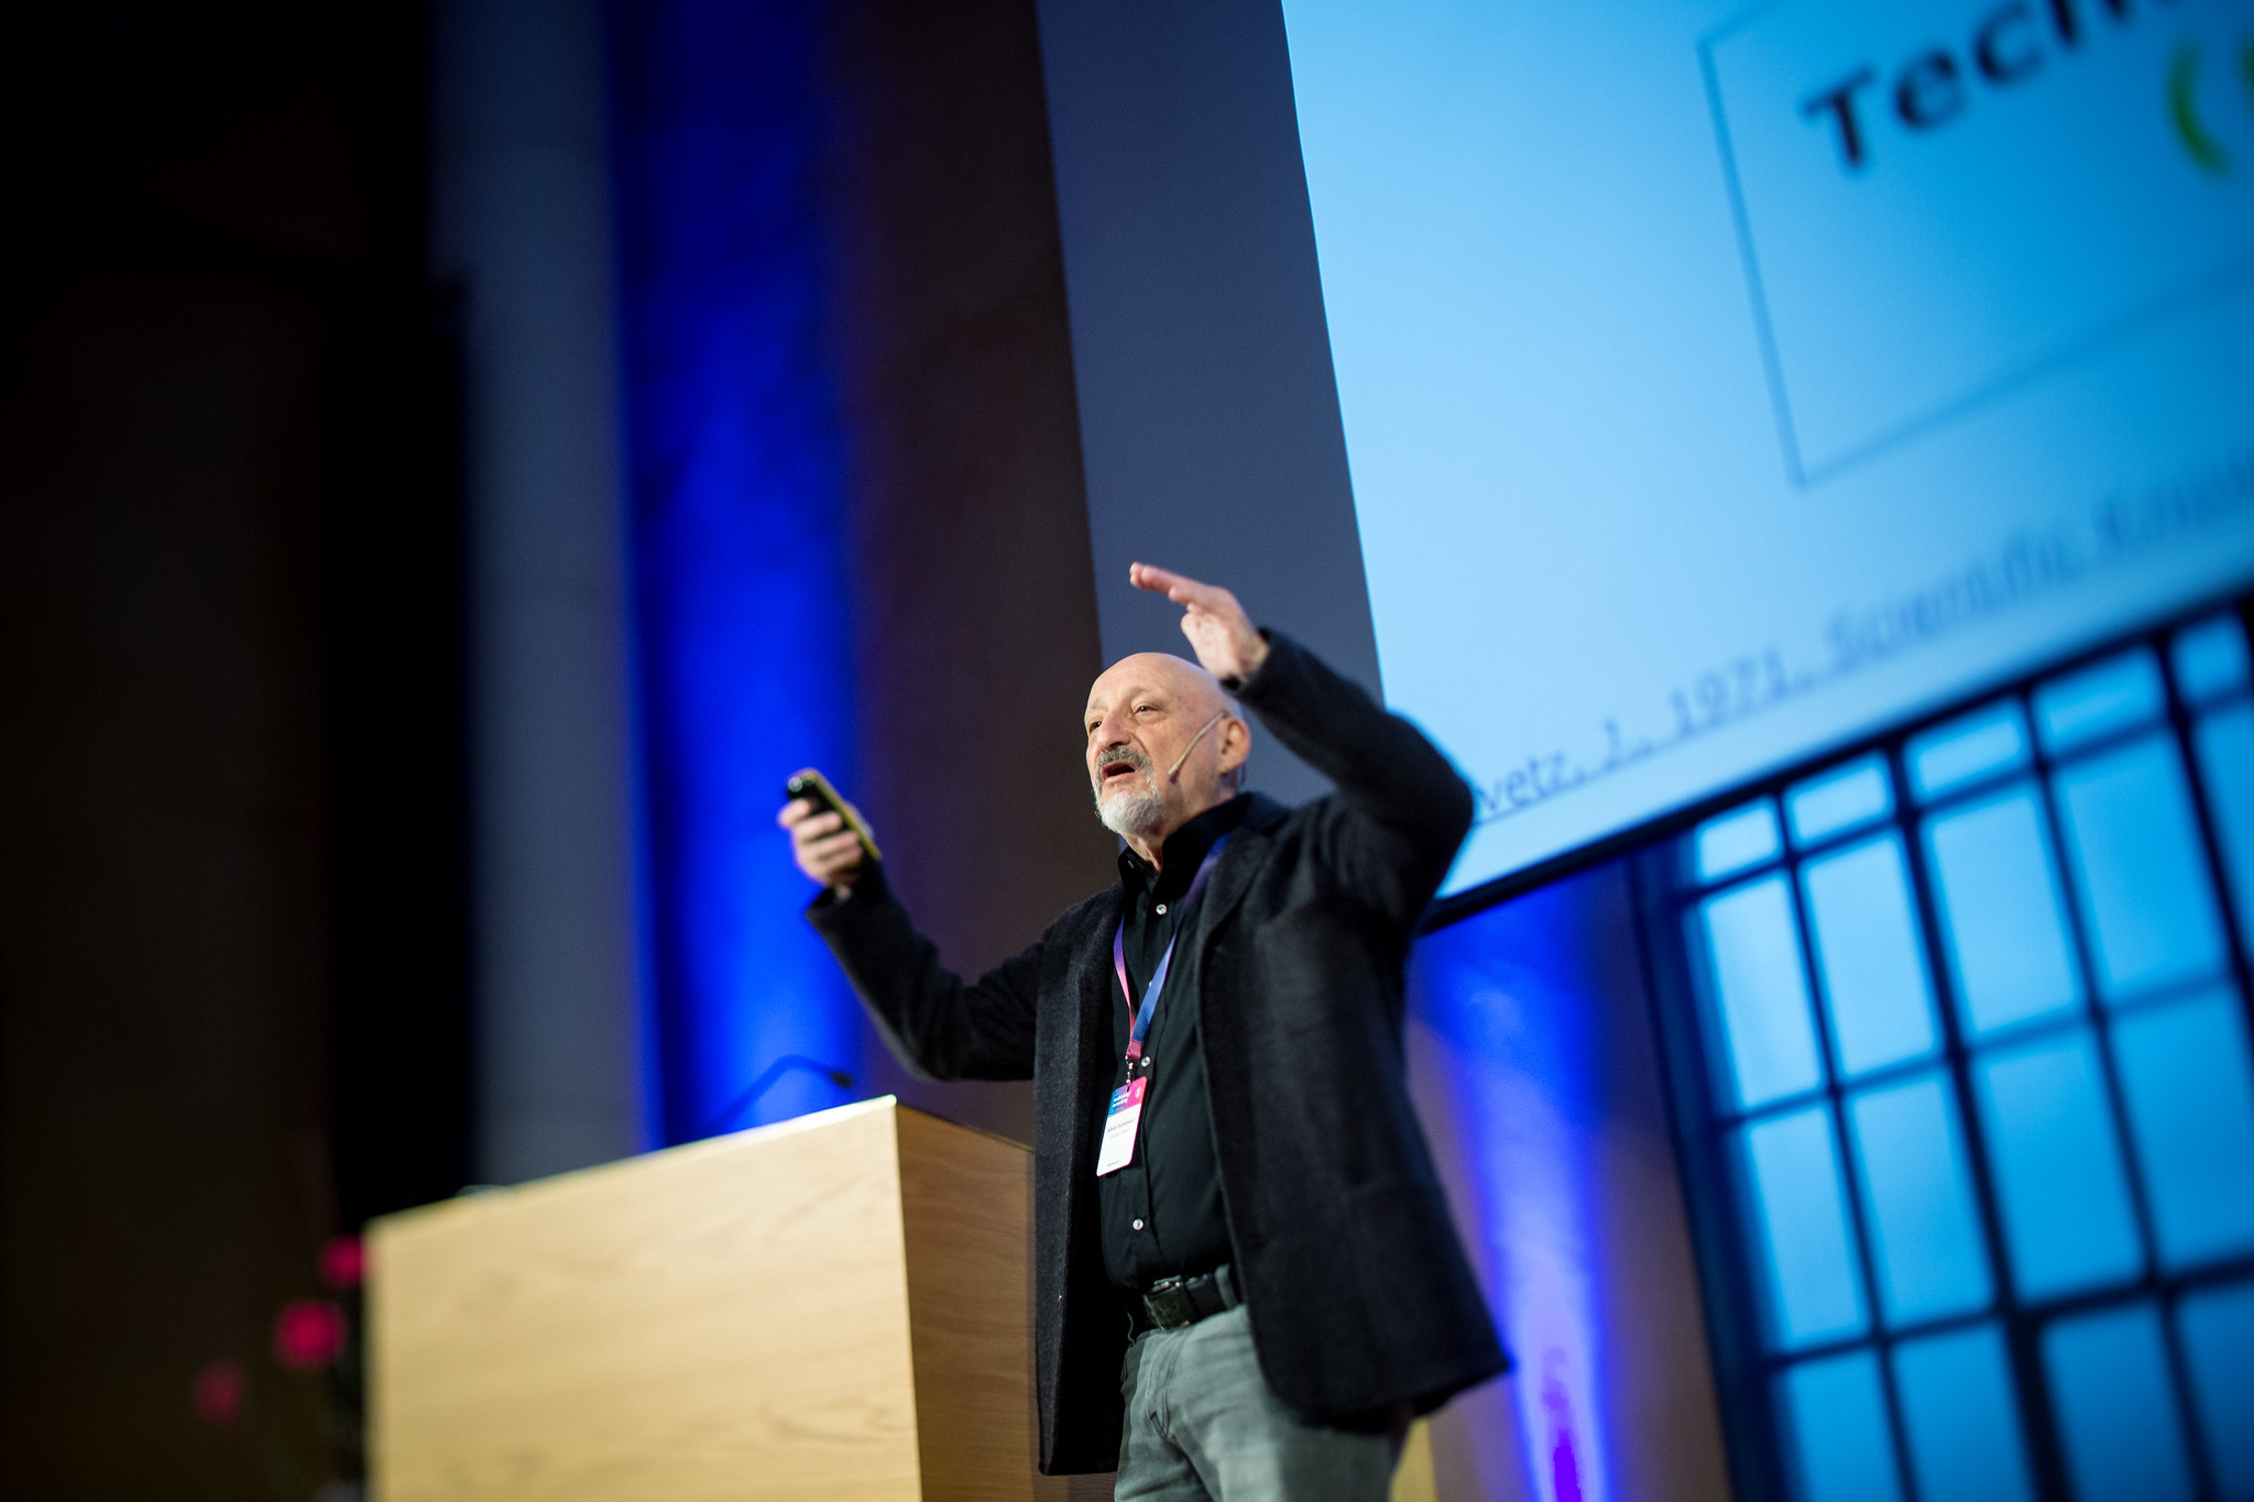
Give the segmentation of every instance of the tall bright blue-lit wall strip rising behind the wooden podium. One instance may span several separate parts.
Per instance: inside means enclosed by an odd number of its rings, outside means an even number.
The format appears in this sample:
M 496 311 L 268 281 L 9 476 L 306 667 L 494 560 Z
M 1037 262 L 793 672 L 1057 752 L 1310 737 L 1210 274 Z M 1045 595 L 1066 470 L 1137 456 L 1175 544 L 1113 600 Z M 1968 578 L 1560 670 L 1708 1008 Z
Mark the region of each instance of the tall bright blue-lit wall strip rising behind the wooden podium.
M 820 7 L 611 5 L 656 1135 L 850 1099 L 854 1000 L 773 824 L 852 777 L 836 381 L 820 338 Z

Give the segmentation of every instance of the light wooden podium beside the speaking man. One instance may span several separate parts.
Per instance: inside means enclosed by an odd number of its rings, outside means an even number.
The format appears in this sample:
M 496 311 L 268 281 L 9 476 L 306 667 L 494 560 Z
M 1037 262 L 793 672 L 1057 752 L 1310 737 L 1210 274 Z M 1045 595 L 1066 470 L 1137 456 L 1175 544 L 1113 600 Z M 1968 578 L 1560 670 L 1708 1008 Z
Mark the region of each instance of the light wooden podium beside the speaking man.
M 1035 1468 L 1030 1178 L 886 1097 L 390 1216 L 376 1495 L 1109 1495 Z

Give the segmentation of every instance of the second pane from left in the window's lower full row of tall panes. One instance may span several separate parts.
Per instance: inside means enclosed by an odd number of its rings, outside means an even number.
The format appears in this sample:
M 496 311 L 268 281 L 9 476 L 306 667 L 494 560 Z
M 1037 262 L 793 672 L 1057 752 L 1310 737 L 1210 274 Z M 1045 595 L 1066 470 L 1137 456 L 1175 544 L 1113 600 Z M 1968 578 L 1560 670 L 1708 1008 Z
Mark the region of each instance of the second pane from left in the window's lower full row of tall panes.
M 1990 1295 L 1956 1101 L 1938 1074 L 1848 1101 L 1871 1259 L 1889 1324 L 1961 1315 Z

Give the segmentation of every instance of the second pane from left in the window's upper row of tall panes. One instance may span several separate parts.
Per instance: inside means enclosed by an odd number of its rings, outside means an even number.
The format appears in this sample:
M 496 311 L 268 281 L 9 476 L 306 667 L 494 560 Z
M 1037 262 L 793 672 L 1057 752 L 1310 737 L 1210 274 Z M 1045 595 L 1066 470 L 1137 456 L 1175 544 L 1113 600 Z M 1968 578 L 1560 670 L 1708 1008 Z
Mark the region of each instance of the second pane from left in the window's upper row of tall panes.
M 1801 883 L 1839 1072 L 1932 1054 L 1941 1027 L 1900 838 L 1810 860 Z

